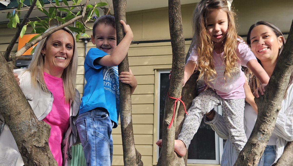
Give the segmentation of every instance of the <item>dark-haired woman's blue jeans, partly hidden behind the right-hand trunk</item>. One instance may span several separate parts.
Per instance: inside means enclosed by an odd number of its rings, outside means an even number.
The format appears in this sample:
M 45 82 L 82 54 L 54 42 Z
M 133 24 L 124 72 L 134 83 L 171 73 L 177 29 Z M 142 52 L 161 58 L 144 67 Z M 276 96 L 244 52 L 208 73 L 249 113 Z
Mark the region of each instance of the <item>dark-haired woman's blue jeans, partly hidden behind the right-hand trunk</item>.
M 276 145 L 267 145 L 263 155 L 260 157 L 258 166 L 271 166 L 276 158 Z

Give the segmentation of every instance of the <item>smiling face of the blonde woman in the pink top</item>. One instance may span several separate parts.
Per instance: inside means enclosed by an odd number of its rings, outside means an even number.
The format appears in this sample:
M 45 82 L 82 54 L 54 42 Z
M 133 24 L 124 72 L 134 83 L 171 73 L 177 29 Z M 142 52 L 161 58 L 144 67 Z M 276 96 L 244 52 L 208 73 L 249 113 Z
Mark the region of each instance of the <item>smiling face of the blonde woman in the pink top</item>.
M 41 53 L 44 54 L 44 71 L 46 73 L 63 72 L 73 56 L 73 37 L 64 30 L 52 33 Z

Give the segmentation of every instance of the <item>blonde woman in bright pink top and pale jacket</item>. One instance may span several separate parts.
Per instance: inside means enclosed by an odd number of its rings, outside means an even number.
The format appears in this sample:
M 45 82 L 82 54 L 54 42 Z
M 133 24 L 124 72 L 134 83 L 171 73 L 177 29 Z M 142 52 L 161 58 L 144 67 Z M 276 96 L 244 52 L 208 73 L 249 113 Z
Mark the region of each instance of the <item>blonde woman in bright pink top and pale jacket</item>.
M 49 28 L 47 31 L 54 27 Z M 74 125 L 80 105 L 75 89 L 77 48 L 72 32 L 62 28 L 40 41 L 27 69 L 16 69 L 20 88 L 28 99 L 35 116 L 51 126 L 49 147 L 58 166 L 69 165 L 71 146 L 76 142 Z M 23 165 L 8 126 L 0 135 L 0 156 L 10 165 Z M 12 153 L 8 153 L 13 147 Z M 13 164 L 11 164 L 13 163 Z

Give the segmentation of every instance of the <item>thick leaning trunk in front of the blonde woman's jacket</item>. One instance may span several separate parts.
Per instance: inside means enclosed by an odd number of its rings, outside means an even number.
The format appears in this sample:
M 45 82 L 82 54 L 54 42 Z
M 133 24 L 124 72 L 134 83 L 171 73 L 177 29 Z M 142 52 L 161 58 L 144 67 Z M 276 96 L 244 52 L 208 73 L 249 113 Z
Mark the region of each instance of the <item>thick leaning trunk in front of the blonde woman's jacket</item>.
M 25 165 L 57 165 L 49 149 L 50 125 L 38 121 L 0 52 L 0 113 L 10 128 Z

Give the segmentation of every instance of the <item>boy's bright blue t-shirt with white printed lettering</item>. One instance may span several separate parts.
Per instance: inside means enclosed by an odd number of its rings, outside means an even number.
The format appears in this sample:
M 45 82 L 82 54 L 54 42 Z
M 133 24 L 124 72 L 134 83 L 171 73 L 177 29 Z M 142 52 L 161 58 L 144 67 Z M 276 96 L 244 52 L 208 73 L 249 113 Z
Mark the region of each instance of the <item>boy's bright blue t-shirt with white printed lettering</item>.
M 114 122 L 113 128 L 116 128 L 119 117 L 118 67 L 93 63 L 105 55 L 108 54 L 98 48 L 91 48 L 86 54 L 84 60 L 86 85 L 81 98 L 79 114 L 98 107 L 105 108 Z

